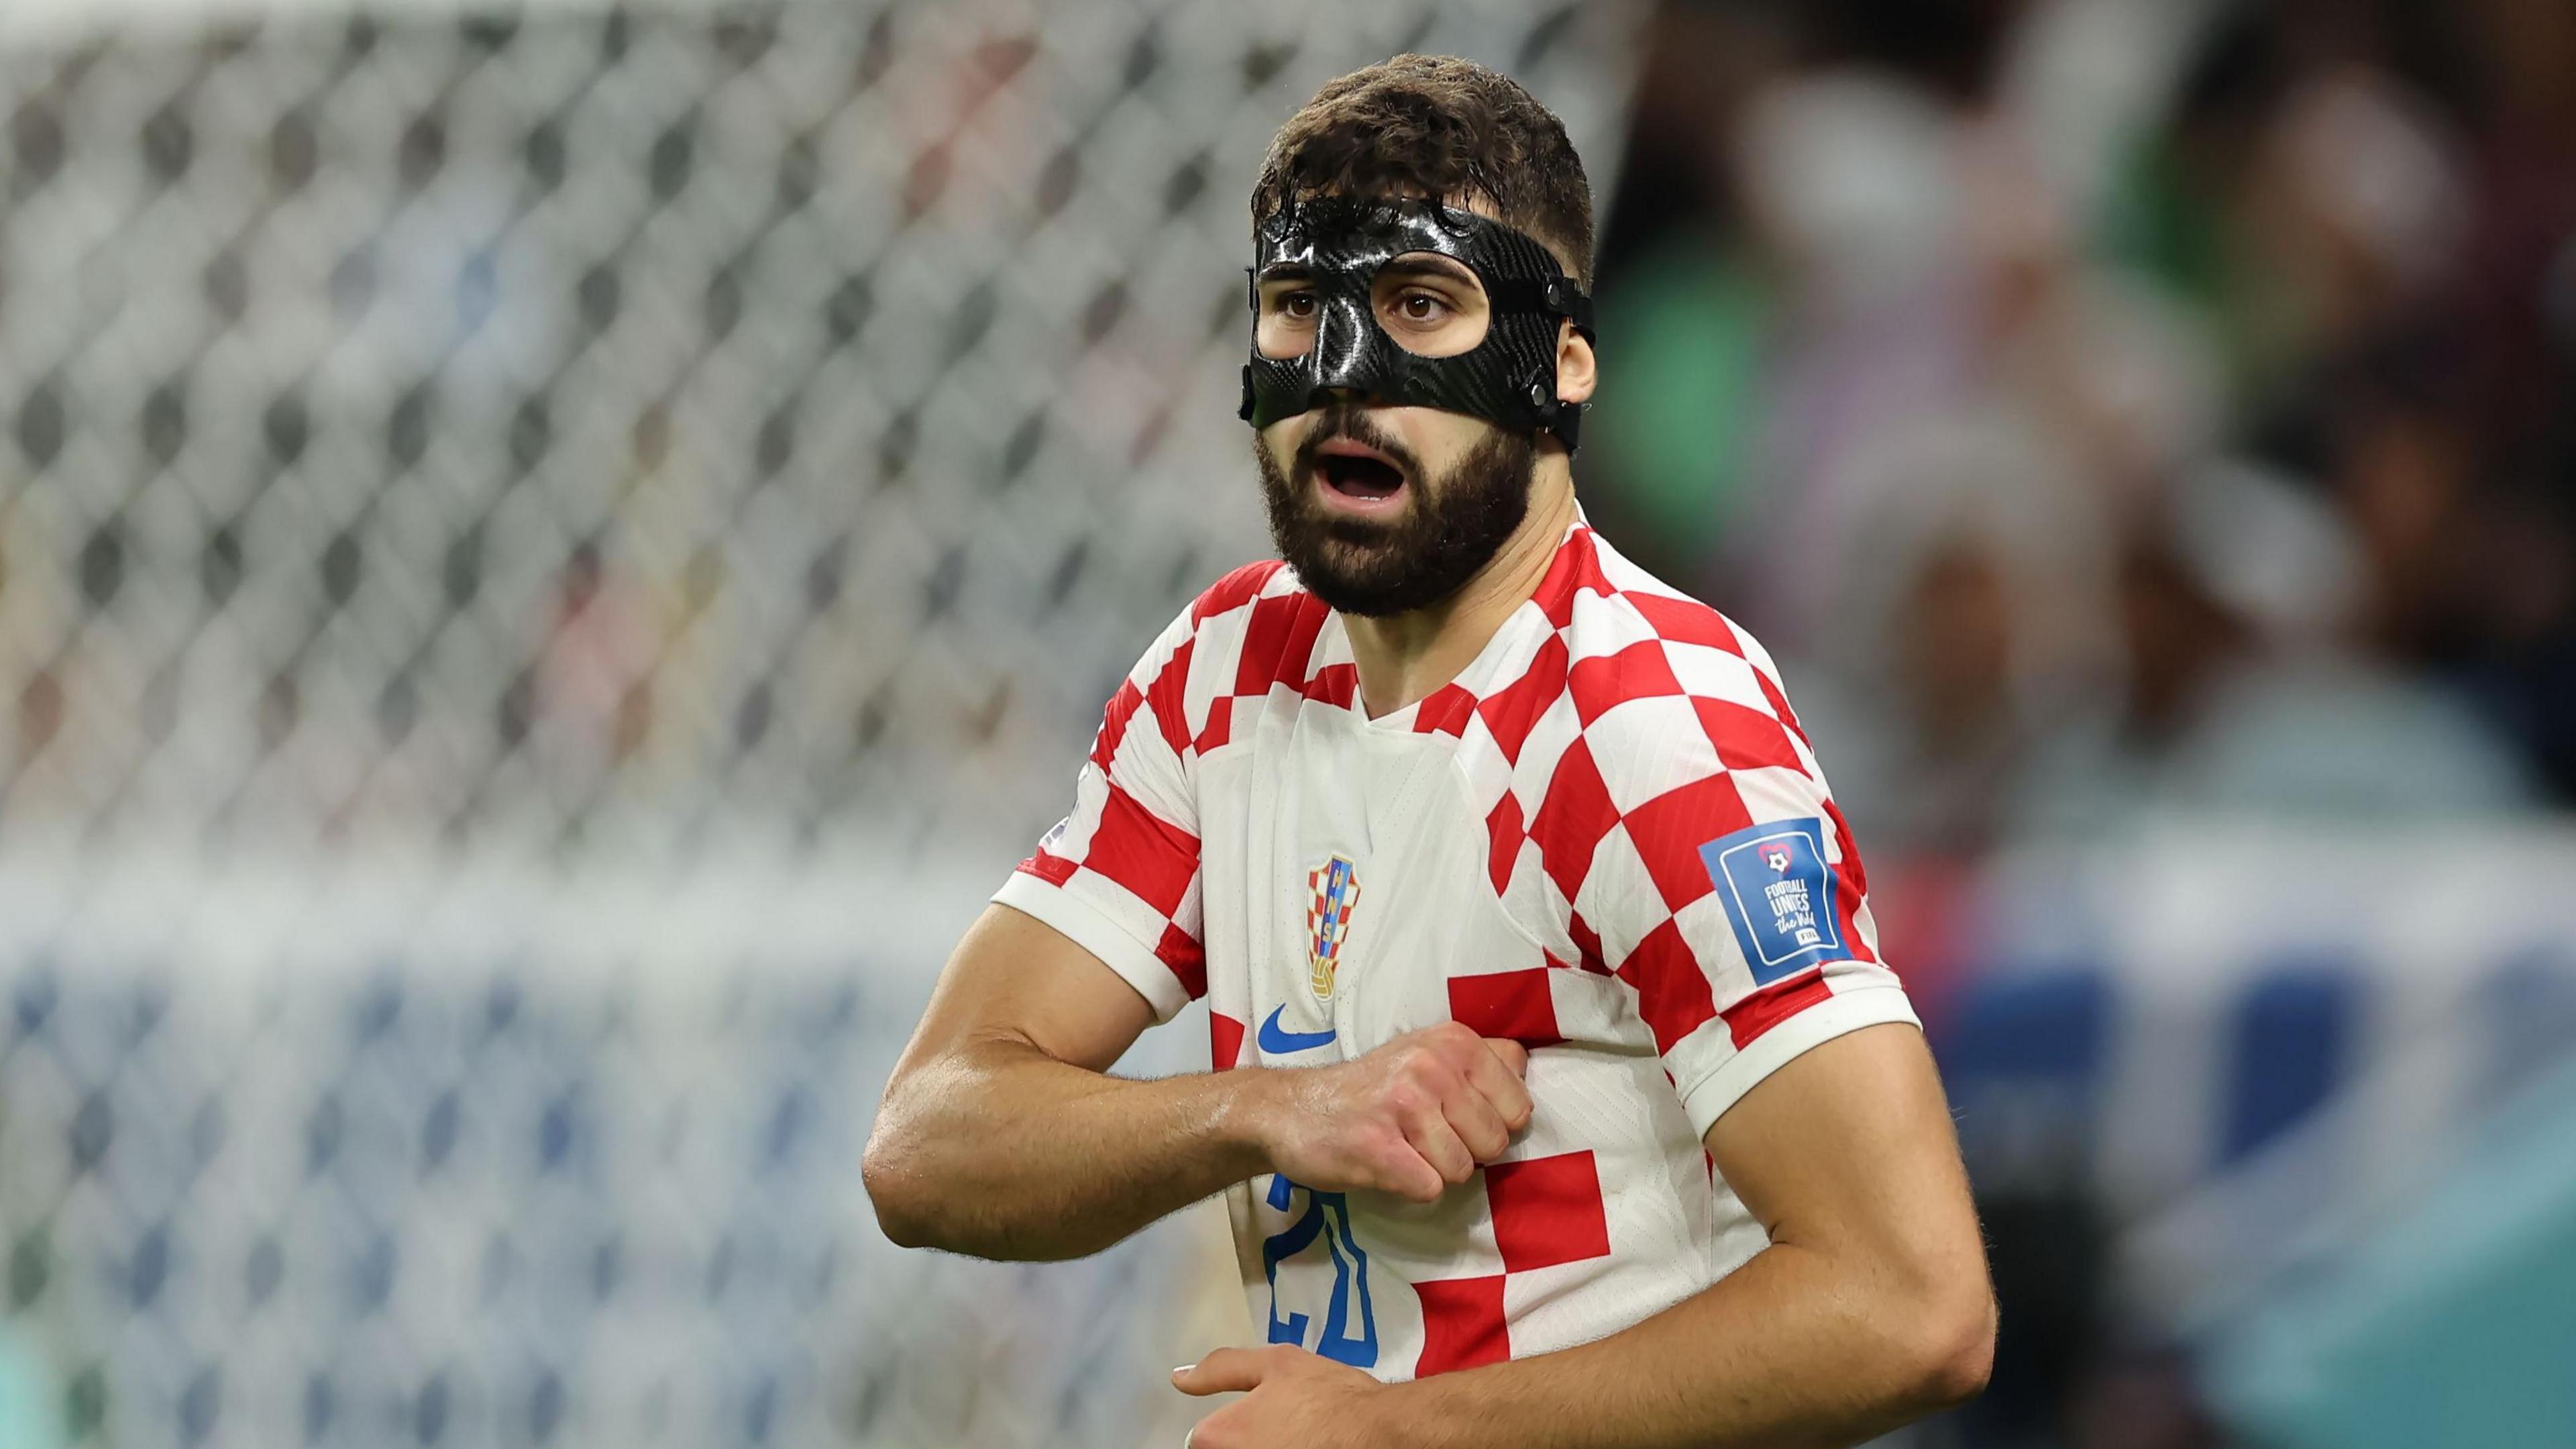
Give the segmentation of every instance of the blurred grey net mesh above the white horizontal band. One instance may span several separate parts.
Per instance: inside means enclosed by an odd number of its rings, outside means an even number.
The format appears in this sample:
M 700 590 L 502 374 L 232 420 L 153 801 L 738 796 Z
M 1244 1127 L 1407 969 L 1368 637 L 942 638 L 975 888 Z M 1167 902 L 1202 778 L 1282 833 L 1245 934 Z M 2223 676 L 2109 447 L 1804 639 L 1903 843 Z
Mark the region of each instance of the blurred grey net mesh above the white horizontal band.
M 1607 113 L 1574 8 L 1038 21 L 0 57 L 0 828 L 1041 822 L 1139 639 L 1262 552 L 1270 129 L 1404 44 Z

